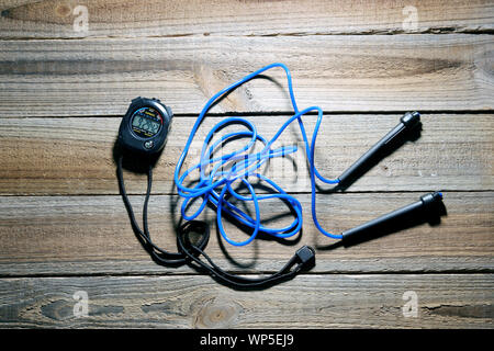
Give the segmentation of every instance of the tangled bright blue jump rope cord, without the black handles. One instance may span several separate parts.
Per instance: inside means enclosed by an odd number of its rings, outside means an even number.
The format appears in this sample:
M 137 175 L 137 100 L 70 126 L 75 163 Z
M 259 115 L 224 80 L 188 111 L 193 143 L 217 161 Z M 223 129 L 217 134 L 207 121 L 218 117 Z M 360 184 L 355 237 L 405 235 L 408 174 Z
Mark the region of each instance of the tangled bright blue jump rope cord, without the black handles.
M 207 136 L 204 139 L 202 150 L 201 150 L 201 158 L 200 162 L 189 168 L 187 171 L 183 172 L 183 174 L 180 176 L 180 170 L 182 168 L 183 161 L 189 152 L 190 146 L 192 144 L 192 140 L 195 136 L 195 133 L 199 128 L 199 126 L 202 123 L 202 120 L 204 118 L 207 111 L 211 109 L 211 106 L 225 93 L 231 92 L 232 90 L 236 89 L 237 87 L 242 86 L 243 83 L 249 81 L 250 79 L 255 78 L 256 76 L 262 73 L 263 71 L 274 68 L 274 67 L 281 67 L 283 68 L 284 72 L 287 73 L 287 80 L 288 80 L 288 88 L 290 92 L 290 100 L 292 102 L 293 110 L 295 114 L 288 118 L 284 124 L 280 127 L 280 129 L 277 132 L 277 134 L 270 139 L 267 140 L 263 138 L 260 134 L 257 133 L 256 127 L 254 124 L 251 124 L 249 121 L 240 117 L 228 117 L 222 120 L 220 123 L 217 123 L 207 134 Z M 302 116 L 304 116 L 306 113 L 317 111 L 317 121 L 316 125 L 314 127 L 314 132 L 312 134 L 312 140 L 311 145 L 308 145 L 307 135 L 305 133 L 305 127 L 302 122 Z M 278 137 L 283 133 L 283 131 L 292 123 L 293 121 L 299 122 L 299 126 L 302 133 L 303 140 L 305 143 L 305 150 L 306 156 L 308 159 L 310 165 L 310 176 L 311 176 L 311 203 L 312 203 L 312 218 L 314 220 L 315 226 L 317 229 L 324 234 L 327 237 L 340 239 L 341 235 L 335 235 L 330 234 L 326 230 L 324 230 L 318 220 L 317 220 L 317 214 L 316 214 L 316 189 L 315 189 L 315 177 L 319 179 L 322 182 L 327 184 L 337 184 L 339 182 L 338 179 L 332 180 L 326 179 L 319 174 L 317 169 L 314 166 L 314 149 L 315 149 L 315 143 L 317 133 L 321 126 L 321 122 L 323 120 L 323 111 L 318 106 L 312 106 L 308 109 L 305 109 L 303 111 L 299 111 L 299 107 L 296 106 L 295 97 L 293 93 L 293 87 L 292 87 L 292 77 L 290 73 L 289 68 L 283 64 L 271 64 L 268 65 L 259 70 L 256 70 L 255 72 L 251 72 L 250 75 L 244 77 L 243 79 L 238 80 L 237 82 L 231 84 L 229 87 L 226 87 L 218 91 L 214 97 L 212 97 L 202 109 L 200 115 L 198 116 L 195 124 L 192 127 L 192 131 L 190 132 L 189 138 L 186 143 L 186 146 L 183 147 L 183 151 L 177 162 L 177 167 L 175 169 L 175 183 L 177 184 L 178 193 L 180 196 L 184 197 L 183 204 L 181 206 L 181 214 L 184 219 L 192 220 L 195 217 L 198 217 L 202 211 L 205 208 L 207 202 L 212 203 L 216 207 L 216 218 L 217 218 L 217 227 L 220 229 L 220 233 L 222 237 L 234 246 L 244 246 L 252 241 L 257 234 L 259 231 L 272 235 L 278 238 L 288 238 L 290 236 L 295 235 L 300 231 L 302 228 L 302 205 L 301 203 L 293 197 L 292 195 L 287 194 L 283 189 L 281 189 L 278 184 L 276 184 L 272 180 L 269 178 L 257 173 L 256 170 L 258 170 L 263 163 L 266 163 L 270 158 L 274 157 L 282 157 L 284 155 L 289 155 L 292 152 L 295 152 L 297 150 L 296 146 L 290 146 L 290 147 L 281 147 L 278 149 L 271 149 L 271 145 L 278 139 Z M 240 124 L 244 125 L 247 131 L 243 132 L 233 132 L 228 133 L 224 136 L 222 136 L 218 140 L 216 140 L 211 147 L 207 147 L 210 141 L 212 140 L 215 133 L 217 133 L 220 129 L 227 125 L 232 124 Z M 212 155 L 214 150 L 229 140 L 237 139 L 237 138 L 250 138 L 250 140 L 240 149 L 229 152 L 227 155 L 223 155 L 221 157 L 213 158 Z M 261 151 L 256 154 L 249 154 L 249 150 L 254 147 L 256 143 L 262 143 L 265 147 Z M 227 165 L 232 165 L 231 169 L 225 171 L 224 169 L 227 168 Z M 205 173 L 205 169 L 212 167 L 209 174 Z M 188 178 L 189 174 L 191 174 L 194 171 L 199 171 L 200 179 L 198 183 L 188 188 L 183 185 L 183 182 Z M 270 193 L 270 194 L 256 194 L 252 185 L 248 182 L 248 177 L 257 177 L 261 181 L 267 182 L 270 186 L 272 186 L 277 192 Z M 239 180 L 247 188 L 249 195 L 242 195 L 237 193 L 232 184 Z M 252 202 L 254 208 L 255 208 L 255 218 L 252 218 L 250 215 L 246 214 L 244 211 L 235 206 L 233 203 L 231 203 L 227 197 L 233 196 L 239 201 L 244 202 Z M 201 205 L 199 208 L 193 213 L 192 215 L 188 215 L 187 207 L 188 205 L 195 201 L 199 197 L 203 197 Z M 268 228 L 260 224 L 260 213 L 259 213 L 259 201 L 267 200 L 267 199 L 281 199 L 284 201 L 293 211 L 294 220 L 282 228 Z M 223 220 L 222 220 L 222 213 L 227 213 L 231 217 L 238 220 L 238 223 L 250 227 L 252 229 L 251 235 L 247 240 L 244 241 L 235 241 L 232 240 L 225 233 L 225 229 L 223 227 Z

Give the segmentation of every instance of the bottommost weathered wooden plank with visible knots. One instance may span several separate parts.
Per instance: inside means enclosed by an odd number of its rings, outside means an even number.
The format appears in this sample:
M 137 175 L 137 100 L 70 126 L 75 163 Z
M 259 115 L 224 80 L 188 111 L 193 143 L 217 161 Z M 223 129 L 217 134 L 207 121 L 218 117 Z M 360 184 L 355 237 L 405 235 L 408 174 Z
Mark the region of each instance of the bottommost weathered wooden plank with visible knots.
M 493 288 L 492 274 L 300 275 L 258 292 L 200 275 L 1 279 L 0 327 L 492 328 Z M 87 317 L 74 315 L 80 291 Z

